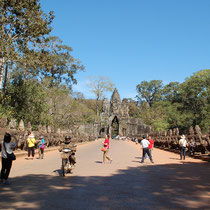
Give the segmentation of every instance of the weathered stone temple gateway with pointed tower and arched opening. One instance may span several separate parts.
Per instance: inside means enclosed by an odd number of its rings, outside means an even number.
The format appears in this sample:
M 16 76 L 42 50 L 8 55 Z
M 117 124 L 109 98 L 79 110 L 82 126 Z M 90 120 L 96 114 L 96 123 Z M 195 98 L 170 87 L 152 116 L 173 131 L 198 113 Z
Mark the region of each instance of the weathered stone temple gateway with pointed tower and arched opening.
M 141 119 L 129 116 L 127 99 L 121 101 L 117 89 L 114 90 L 111 100 L 103 100 L 101 126 L 99 135 L 103 137 L 110 134 L 112 137 L 120 135 L 135 137 L 143 133 L 150 133 L 150 127 L 146 126 Z

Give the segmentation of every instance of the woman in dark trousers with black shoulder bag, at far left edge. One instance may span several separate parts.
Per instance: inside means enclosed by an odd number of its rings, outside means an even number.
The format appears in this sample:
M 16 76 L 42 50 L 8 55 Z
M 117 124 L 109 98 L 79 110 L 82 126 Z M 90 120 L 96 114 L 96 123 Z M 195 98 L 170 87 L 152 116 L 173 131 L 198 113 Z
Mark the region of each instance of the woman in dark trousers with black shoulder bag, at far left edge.
M 11 142 L 11 137 L 15 138 L 15 143 Z M 18 144 L 18 140 L 14 135 L 6 133 L 1 143 L 1 183 L 10 184 L 8 177 L 12 167 L 12 161 L 16 159 L 13 150 Z

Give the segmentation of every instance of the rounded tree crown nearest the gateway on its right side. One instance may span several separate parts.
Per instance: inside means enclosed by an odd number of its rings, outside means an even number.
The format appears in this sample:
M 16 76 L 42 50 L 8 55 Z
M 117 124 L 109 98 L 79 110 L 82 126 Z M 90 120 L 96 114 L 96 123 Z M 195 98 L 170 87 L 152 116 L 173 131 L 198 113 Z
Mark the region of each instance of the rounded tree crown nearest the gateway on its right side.
M 142 81 L 136 86 L 138 93 L 136 97 L 140 103 L 146 101 L 151 107 L 155 101 L 159 101 L 161 99 L 162 87 L 162 80 L 151 80 L 150 82 Z

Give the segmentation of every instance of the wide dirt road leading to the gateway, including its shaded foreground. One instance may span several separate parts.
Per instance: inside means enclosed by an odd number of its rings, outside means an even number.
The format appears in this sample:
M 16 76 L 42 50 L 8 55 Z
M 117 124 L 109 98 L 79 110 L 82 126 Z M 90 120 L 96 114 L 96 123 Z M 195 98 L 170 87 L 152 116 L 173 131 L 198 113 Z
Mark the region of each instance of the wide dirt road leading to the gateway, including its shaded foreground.
M 101 142 L 78 147 L 67 177 L 58 151 L 18 158 L 11 185 L 0 185 L 0 209 L 210 209 L 210 163 L 154 149 L 155 163 L 141 164 L 139 145 L 111 140 L 113 162 L 102 164 Z

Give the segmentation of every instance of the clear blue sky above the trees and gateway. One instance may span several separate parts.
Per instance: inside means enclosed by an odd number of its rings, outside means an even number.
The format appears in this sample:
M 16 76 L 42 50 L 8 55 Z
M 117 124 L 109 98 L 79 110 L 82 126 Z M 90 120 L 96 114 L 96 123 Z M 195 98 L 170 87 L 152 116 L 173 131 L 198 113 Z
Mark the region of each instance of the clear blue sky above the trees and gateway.
M 183 82 L 210 68 L 210 0 L 41 0 L 54 11 L 52 35 L 73 48 L 88 76 L 110 77 L 121 99 L 146 80 Z M 110 97 L 110 94 L 107 95 Z

